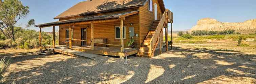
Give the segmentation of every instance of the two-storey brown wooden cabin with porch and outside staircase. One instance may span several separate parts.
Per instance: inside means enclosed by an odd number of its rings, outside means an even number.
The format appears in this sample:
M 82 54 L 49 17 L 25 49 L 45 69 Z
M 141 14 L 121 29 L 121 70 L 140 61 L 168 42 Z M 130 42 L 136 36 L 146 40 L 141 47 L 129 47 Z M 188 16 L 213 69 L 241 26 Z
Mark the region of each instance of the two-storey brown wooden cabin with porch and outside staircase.
M 157 48 L 162 50 L 163 31 L 173 22 L 172 14 L 163 0 L 86 0 L 54 17 L 59 21 L 35 27 L 40 28 L 40 49 L 45 48 L 41 45 L 41 29 L 53 27 L 55 31 L 59 26 L 59 44 L 68 48 L 88 46 L 80 51 L 152 57 Z M 132 47 L 128 46 L 131 40 Z M 113 49 L 116 53 L 110 54 Z

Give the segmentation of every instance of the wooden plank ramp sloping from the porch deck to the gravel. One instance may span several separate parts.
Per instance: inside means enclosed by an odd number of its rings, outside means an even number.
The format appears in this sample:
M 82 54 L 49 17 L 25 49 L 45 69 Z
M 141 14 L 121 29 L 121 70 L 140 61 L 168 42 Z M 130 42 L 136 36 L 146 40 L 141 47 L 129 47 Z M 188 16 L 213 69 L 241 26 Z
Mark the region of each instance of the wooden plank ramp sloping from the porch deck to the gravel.
M 99 54 L 92 54 L 92 53 L 87 53 L 87 52 L 81 52 L 81 51 L 68 49 L 68 48 L 55 48 L 54 51 L 62 53 L 62 54 L 74 56 L 74 57 L 82 56 L 82 57 L 90 58 L 93 60 L 100 60 L 103 58 L 107 58 L 107 56 L 102 56 Z

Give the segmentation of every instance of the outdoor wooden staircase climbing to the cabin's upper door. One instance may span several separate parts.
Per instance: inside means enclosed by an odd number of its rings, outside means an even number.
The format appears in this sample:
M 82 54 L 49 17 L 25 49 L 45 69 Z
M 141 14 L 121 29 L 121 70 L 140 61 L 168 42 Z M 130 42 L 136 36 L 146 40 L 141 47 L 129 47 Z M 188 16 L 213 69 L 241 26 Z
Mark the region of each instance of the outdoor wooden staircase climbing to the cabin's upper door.
M 149 28 L 149 32 L 144 38 L 143 43 L 137 53 L 137 56 L 143 57 L 153 57 L 154 51 L 156 49 L 157 44 L 159 43 L 159 38 L 163 32 L 163 28 L 168 24 L 168 11 L 166 10 L 162 18 L 160 20 L 155 20 L 151 27 Z

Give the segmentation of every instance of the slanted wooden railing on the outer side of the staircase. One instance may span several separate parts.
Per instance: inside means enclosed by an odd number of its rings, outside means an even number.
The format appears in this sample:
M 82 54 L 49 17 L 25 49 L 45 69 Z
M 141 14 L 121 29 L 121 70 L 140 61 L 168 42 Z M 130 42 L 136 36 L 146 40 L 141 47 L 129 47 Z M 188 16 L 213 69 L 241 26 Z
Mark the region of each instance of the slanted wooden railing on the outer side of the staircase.
M 155 32 L 150 40 L 150 55 L 154 55 L 154 51 L 156 49 L 156 46 L 158 44 L 158 39 L 161 37 L 161 32 L 163 31 L 164 26 L 168 23 L 168 10 L 164 12 L 162 15 L 162 18 L 159 21 L 158 26 L 155 29 Z

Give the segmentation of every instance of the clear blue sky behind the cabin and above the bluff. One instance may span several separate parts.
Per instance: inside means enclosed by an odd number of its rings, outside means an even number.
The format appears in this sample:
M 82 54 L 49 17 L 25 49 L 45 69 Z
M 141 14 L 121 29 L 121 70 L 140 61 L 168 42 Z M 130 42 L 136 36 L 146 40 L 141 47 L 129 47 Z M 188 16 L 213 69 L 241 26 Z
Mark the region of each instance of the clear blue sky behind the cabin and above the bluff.
M 21 1 L 23 5 L 29 6 L 30 11 L 17 24 L 24 26 L 29 19 L 35 19 L 36 24 L 57 21 L 53 19 L 55 16 L 85 0 Z M 164 0 L 164 3 L 174 13 L 174 30 L 190 29 L 196 25 L 197 20 L 205 17 L 215 18 L 220 22 L 244 22 L 256 18 L 256 0 Z M 28 29 L 39 30 L 37 27 Z M 51 27 L 42 30 L 52 32 Z

